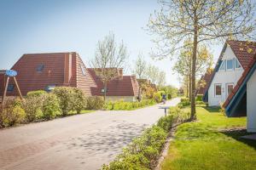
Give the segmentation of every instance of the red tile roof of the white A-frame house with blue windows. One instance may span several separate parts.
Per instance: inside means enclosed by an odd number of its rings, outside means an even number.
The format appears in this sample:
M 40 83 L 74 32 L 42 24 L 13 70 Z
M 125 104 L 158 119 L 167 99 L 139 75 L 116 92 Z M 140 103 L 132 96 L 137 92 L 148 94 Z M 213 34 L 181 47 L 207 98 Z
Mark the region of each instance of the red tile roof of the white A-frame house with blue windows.
M 227 43 L 241 63 L 242 68 L 246 69 L 256 52 L 256 42 L 230 40 Z

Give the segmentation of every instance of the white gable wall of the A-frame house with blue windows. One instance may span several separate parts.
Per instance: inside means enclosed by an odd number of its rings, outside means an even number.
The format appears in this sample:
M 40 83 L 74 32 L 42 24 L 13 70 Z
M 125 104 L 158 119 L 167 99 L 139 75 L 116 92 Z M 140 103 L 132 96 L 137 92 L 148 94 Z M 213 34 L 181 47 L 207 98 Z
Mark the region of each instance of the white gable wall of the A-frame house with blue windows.
M 224 51 L 222 59 L 233 59 L 236 58 L 236 55 L 228 45 Z M 212 83 L 208 90 L 208 104 L 209 106 L 217 106 L 220 103 L 224 103 L 224 101 L 228 97 L 228 91 L 226 86 L 228 83 L 233 83 L 234 87 L 236 86 L 237 81 L 241 77 L 243 72 L 242 67 L 240 69 L 234 69 L 232 71 L 217 71 L 215 76 L 212 79 Z M 215 96 L 215 84 L 221 84 L 222 93 L 221 96 Z

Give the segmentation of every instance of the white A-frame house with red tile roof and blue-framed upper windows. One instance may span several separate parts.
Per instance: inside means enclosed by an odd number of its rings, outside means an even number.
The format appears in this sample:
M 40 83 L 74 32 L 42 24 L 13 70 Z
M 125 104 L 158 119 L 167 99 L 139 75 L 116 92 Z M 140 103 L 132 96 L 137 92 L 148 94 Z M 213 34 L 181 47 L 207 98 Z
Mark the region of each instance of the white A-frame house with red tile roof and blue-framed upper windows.
M 209 106 L 218 106 L 226 101 L 243 72 L 247 70 L 255 51 L 255 42 L 230 40 L 224 43 L 203 96 Z

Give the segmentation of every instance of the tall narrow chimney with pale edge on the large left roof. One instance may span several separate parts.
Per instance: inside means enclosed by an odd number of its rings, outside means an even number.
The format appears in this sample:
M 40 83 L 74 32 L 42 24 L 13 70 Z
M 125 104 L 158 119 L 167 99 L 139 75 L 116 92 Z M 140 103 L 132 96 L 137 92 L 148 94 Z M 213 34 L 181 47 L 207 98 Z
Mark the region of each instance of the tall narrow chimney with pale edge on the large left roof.
M 72 76 L 72 53 L 65 54 L 64 63 L 64 86 L 69 86 Z

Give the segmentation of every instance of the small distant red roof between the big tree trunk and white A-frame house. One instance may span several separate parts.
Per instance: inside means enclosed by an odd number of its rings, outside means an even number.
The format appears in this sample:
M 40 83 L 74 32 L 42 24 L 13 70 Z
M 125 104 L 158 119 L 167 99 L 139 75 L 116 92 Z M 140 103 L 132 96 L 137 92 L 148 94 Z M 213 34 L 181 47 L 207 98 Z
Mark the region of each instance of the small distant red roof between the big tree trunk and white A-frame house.
M 212 78 L 212 73 L 213 70 L 212 69 L 208 69 L 206 74 L 204 76 L 201 77 L 201 80 L 199 82 L 199 89 L 197 91 L 197 94 L 205 94 L 207 91 L 207 86 L 208 83 L 210 82 L 211 78 Z

